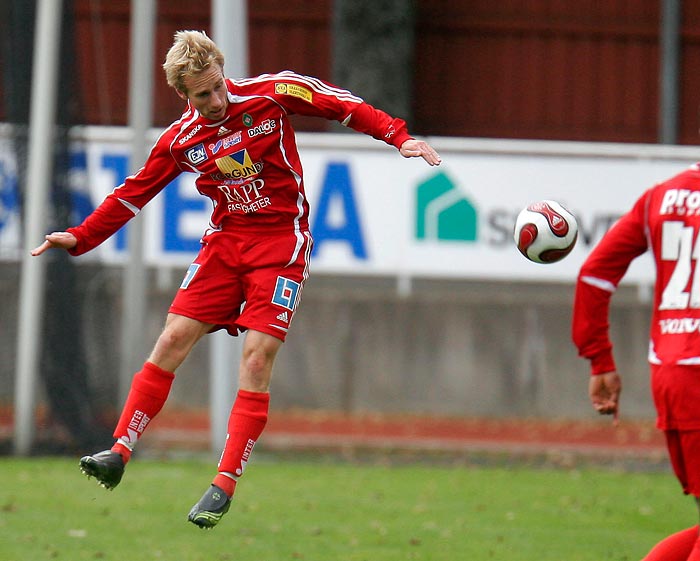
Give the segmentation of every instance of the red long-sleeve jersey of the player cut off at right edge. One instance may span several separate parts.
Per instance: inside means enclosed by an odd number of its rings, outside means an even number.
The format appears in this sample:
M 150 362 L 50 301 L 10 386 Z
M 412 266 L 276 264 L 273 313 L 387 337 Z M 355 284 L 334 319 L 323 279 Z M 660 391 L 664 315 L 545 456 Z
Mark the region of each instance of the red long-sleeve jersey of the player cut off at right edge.
M 592 374 L 616 370 L 609 338 L 610 299 L 633 259 L 656 262 L 651 364 L 700 364 L 700 166 L 646 191 L 581 267 L 572 336 Z

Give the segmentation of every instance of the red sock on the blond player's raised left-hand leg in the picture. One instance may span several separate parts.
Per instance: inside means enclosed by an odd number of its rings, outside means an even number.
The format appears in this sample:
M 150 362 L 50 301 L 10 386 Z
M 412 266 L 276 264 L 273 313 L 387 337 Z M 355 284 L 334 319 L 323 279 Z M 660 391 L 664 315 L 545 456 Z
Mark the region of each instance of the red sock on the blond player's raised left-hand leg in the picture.
M 134 374 L 129 395 L 114 429 L 114 438 L 118 442 L 112 450 L 122 455 L 124 463 L 129 461 L 131 451 L 148 423 L 165 405 L 174 378 L 175 374 L 151 362 L 146 362 L 141 371 Z

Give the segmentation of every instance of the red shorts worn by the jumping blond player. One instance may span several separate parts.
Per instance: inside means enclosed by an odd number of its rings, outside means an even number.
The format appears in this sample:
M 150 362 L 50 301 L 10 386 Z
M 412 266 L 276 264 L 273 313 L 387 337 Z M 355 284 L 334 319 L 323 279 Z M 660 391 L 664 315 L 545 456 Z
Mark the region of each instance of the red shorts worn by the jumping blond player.
M 284 341 L 309 273 L 308 232 L 214 232 L 202 240 L 170 313 L 214 324 L 231 335 L 247 329 Z

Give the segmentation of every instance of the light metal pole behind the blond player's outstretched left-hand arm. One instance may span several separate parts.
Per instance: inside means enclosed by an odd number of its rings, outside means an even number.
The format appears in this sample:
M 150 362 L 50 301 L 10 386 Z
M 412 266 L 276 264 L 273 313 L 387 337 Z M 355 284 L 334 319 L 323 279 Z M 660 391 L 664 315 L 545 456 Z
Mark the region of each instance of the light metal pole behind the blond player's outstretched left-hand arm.
M 129 57 L 129 128 L 131 172 L 138 171 L 148 155 L 146 136 L 153 121 L 153 38 L 155 0 L 131 0 Z M 146 313 L 146 269 L 143 260 L 143 216 L 128 226 L 129 257 L 124 269 L 119 397 L 123 402 L 134 372 L 143 362 Z

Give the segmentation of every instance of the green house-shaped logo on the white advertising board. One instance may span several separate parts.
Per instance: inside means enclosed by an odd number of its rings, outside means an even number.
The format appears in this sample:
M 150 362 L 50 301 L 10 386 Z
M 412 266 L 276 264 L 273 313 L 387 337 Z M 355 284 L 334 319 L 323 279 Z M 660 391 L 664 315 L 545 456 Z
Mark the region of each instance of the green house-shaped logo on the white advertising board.
M 416 189 L 416 239 L 459 242 L 477 239 L 476 208 L 442 172 Z

